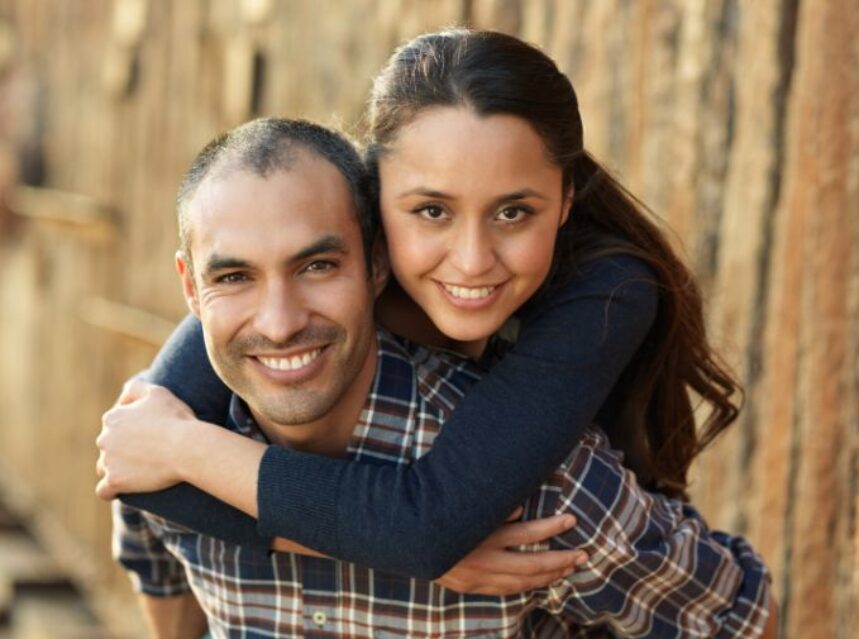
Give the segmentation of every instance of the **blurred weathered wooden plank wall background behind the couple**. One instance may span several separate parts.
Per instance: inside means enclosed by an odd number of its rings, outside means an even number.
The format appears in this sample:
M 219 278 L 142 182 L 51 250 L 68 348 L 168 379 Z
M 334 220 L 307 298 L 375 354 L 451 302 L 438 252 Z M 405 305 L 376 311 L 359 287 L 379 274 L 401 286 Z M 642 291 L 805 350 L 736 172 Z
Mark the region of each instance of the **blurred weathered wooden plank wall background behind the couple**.
M 859 636 L 857 0 L 0 0 L 0 637 L 141 634 L 93 440 L 185 312 L 193 155 L 259 115 L 359 134 L 393 48 L 458 24 L 553 56 L 674 229 L 747 389 L 695 502 L 784 636 Z

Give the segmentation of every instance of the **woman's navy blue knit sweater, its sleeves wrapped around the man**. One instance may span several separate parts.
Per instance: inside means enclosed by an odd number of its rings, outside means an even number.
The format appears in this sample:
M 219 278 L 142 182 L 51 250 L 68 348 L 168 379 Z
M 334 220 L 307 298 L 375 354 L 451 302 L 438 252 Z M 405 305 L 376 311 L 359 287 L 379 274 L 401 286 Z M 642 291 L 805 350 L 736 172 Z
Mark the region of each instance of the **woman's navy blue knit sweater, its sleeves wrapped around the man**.
M 520 312 L 519 339 L 466 396 L 432 450 L 409 466 L 357 463 L 269 446 L 259 522 L 188 484 L 123 495 L 132 506 L 237 544 L 287 537 L 380 570 L 433 579 L 497 528 L 593 422 L 610 426 L 617 383 L 656 316 L 653 275 L 602 258 Z M 224 424 L 230 391 L 186 318 L 150 380 L 203 420 Z

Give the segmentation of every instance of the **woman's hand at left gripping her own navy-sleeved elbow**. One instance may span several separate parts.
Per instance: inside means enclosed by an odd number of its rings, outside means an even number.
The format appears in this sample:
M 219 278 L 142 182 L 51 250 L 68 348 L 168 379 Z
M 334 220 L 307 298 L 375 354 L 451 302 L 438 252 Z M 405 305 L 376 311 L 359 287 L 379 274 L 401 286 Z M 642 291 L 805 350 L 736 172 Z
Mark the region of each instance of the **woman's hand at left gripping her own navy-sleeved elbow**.
M 119 493 L 161 490 L 182 481 L 174 453 L 183 450 L 190 408 L 170 391 L 130 380 L 116 405 L 102 417 L 95 493 L 113 499 Z

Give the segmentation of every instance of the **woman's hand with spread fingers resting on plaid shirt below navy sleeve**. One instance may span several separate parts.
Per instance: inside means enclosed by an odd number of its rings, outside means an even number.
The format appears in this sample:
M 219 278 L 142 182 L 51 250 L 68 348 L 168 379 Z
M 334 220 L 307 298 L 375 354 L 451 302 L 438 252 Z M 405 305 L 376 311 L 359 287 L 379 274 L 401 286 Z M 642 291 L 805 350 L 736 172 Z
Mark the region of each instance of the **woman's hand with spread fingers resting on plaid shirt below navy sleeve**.
M 576 523 L 572 515 L 509 523 L 521 514 L 522 509 L 518 508 L 508 523 L 489 535 L 435 583 L 461 593 L 512 595 L 548 586 L 587 561 L 587 555 L 581 550 L 511 550 L 515 546 L 545 541 L 566 532 Z

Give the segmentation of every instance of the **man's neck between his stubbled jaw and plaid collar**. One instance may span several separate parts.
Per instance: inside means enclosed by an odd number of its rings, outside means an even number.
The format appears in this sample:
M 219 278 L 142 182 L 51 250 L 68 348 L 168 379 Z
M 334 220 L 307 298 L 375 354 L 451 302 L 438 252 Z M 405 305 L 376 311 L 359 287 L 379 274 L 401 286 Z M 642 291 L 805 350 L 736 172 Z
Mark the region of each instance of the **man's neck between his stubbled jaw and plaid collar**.
M 306 424 L 277 424 L 251 408 L 260 430 L 273 444 L 328 457 L 345 455 L 376 375 L 378 350 L 378 338 L 373 331 L 366 361 L 355 381 L 323 417 Z

